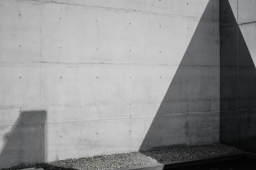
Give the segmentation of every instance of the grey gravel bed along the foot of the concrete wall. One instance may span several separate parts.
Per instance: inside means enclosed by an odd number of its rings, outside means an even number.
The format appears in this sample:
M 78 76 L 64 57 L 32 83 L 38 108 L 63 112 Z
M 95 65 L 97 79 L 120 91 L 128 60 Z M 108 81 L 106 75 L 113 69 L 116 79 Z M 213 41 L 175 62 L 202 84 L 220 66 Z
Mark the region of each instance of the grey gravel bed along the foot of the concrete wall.
M 222 155 L 240 151 L 243 150 L 219 143 L 201 146 L 176 146 L 151 149 L 146 152 L 131 152 L 79 159 L 67 159 L 3 170 L 20 170 L 31 167 L 43 168 L 44 170 L 110 170 L 152 163 Z

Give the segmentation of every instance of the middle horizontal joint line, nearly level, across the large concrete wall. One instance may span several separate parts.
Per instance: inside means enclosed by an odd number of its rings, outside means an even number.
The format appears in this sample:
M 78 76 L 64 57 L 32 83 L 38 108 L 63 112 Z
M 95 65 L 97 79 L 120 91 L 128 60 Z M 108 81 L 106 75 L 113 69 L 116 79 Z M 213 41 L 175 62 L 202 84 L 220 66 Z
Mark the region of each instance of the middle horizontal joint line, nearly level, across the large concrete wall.
M 219 65 L 183 65 L 183 64 L 129 64 L 129 63 L 60 63 L 60 62 L 0 62 L 0 63 L 18 63 L 18 64 L 29 64 L 29 63 L 42 63 L 42 64 L 109 64 L 109 65 L 169 65 L 169 66 L 196 66 L 196 67 L 219 67 Z

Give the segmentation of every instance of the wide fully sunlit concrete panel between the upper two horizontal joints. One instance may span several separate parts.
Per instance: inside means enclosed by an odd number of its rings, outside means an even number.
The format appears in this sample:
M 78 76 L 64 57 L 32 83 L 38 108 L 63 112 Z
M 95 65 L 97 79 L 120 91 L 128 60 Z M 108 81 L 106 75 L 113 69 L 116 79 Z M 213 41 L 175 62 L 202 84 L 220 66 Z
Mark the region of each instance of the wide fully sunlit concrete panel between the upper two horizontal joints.
M 41 22 L 43 62 L 145 62 L 145 13 L 46 3 Z

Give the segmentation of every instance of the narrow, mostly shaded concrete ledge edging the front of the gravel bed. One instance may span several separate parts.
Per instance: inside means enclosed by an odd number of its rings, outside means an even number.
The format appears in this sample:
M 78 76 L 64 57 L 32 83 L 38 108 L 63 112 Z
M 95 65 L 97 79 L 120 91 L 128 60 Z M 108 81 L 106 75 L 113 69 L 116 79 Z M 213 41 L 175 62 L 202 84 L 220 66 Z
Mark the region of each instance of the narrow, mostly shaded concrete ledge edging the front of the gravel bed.
M 121 168 L 119 170 L 166 170 L 166 169 L 174 169 L 174 168 L 181 168 L 186 166 L 195 166 L 201 164 L 208 164 L 208 163 L 215 163 L 215 162 L 224 162 L 233 159 L 240 159 L 248 157 L 248 152 L 238 152 L 238 153 L 230 153 L 224 155 L 216 155 L 216 156 L 208 156 L 203 158 L 193 158 L 181 161 L 172 161 L 166 163 L 155 163 L 149 165 L 142 165 L 142 166 L 134 166 L 128 168 Z M 256 158 L 256 154 L 255 154 Z

